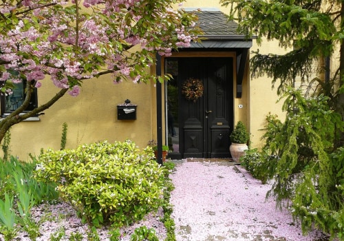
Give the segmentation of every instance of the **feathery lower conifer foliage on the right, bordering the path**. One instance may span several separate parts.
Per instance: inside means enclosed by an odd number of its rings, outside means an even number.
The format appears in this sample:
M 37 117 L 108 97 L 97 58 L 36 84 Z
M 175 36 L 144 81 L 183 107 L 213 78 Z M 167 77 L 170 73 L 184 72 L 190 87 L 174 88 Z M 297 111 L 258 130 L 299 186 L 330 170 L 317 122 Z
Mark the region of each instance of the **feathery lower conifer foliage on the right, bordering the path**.
M 279 205 L 291 200 L 303 231 L 315 225 L 332 237 L 343 237 L 343 148 L 334 149 L 343 122 L 325 96 L 305 99 L 289 90 L 284 96 L 286 120 L 268 116 L 266 146 L 248 151 L 244 165 L 259 179 L 273 178 L 269 196 Z

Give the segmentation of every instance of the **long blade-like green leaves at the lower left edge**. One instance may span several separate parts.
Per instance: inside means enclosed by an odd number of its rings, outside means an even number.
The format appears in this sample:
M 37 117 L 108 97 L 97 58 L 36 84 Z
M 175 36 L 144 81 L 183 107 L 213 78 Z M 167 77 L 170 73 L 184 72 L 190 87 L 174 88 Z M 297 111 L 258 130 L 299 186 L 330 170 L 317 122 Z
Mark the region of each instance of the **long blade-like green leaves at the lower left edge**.
M 13 156 L 8 161 L 0 160 L 0 233 L 5 240 L 13 240 L 19 225 L 35 240 L 40 235 L 41 221 L 34 221 L 30 209 L 58 198 L 54 184 L 33 178 L 35 166 L 34 160 L 22 163 Z

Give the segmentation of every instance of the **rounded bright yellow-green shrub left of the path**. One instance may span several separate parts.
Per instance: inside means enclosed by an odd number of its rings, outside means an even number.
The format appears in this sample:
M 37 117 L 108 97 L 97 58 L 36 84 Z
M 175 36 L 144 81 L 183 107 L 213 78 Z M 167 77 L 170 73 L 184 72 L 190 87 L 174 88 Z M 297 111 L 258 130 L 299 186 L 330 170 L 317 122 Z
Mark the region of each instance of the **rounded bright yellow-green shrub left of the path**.
M 164 168 L 150 148 L 141 151 L 130 140 L 48 149 L 39 162 L 36 177 L 57 182 L 61 198 L 95 226 L 141 220 L 162 203 Z

